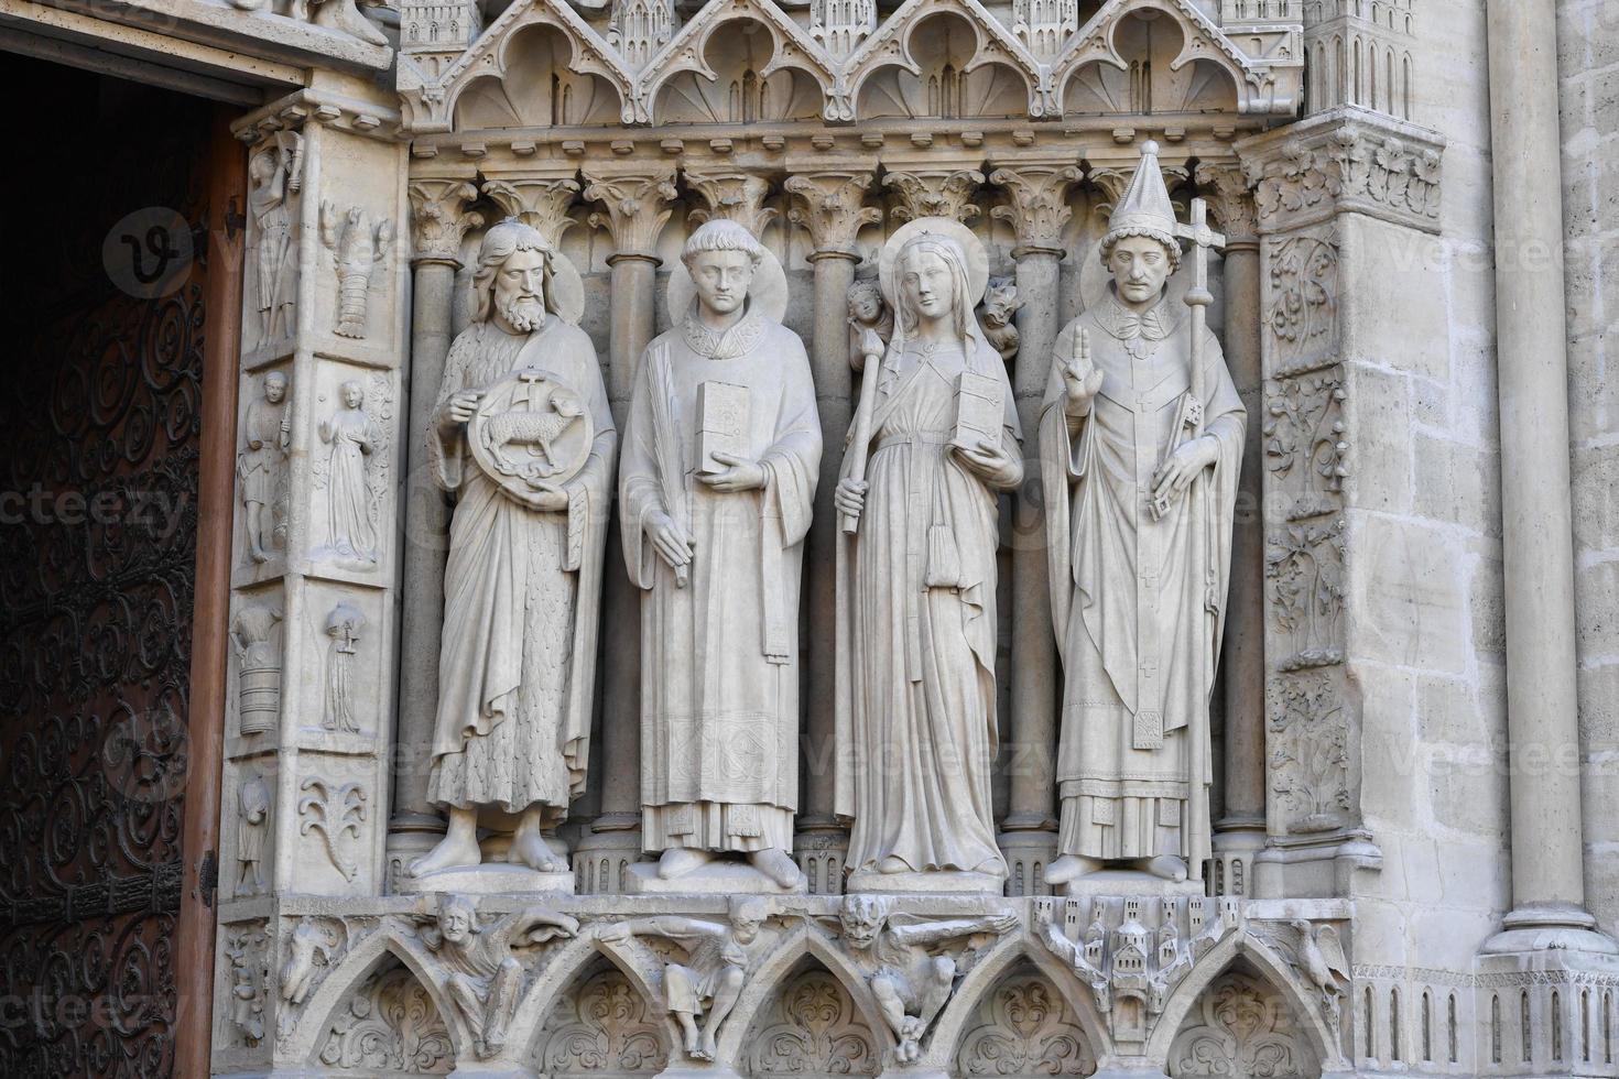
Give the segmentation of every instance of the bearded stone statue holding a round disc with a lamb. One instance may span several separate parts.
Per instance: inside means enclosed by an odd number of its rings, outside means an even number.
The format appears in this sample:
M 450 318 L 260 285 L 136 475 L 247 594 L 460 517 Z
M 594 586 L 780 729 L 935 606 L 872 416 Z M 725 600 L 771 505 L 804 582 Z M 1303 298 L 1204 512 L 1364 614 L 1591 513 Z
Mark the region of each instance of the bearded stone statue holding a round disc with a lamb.
M 497 827 L 516 817 L 507 861 L 567 870 L 542 828 L 584 785 L 617 435 L 596 348 L 547 312 L 560 257 L 516 220 L 489 230 L 473 325 L 450 346 L 427 430 L 434 479 L 457 495 L 427 788 L 450 827 L 416 875 L 478 865 L 481 810 Z M 594 432 L 578 429 L 576 471 L 547 472 L 523 442 L 494 446 L 487 421 L 555 416 L 559 395 L 583 404 Z

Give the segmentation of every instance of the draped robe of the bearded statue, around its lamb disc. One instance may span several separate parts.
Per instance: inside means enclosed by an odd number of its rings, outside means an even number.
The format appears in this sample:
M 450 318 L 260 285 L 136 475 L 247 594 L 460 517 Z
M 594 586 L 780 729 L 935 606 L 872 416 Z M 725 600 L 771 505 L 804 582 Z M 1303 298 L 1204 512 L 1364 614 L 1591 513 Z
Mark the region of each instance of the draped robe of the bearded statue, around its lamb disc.
M 617 432 L 594 345 L 557 315 L 528 336 L 492 322 L 466 328 L 450 346 L 439 408 L 523 367 L 573 388 L 596 435 L 563 487 L 568 508 L 539 511 L 478 468 L 463 425 L 427 430 L 434 480 L 457 493 L 427 796 L 507 812 L 538 804 L 557 820 L 584 788 Z

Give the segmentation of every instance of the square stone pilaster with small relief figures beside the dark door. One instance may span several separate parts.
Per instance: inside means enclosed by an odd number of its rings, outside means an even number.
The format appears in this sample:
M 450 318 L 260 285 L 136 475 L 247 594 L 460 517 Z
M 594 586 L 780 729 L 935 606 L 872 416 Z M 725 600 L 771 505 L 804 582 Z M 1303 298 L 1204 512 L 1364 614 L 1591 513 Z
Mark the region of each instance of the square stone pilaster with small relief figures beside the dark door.
M 278 904 L 387 886 L 408 469 L 408 150 L 397 123 L 380 100 L 361 112 L 301 91 L 235 125 L 249 196 L 222 718 L 220 1071 L 287 1064 L 266 1037 L 277 1001 L 259 1001 L 262 1024 L 233 1006 L 275 963 Z

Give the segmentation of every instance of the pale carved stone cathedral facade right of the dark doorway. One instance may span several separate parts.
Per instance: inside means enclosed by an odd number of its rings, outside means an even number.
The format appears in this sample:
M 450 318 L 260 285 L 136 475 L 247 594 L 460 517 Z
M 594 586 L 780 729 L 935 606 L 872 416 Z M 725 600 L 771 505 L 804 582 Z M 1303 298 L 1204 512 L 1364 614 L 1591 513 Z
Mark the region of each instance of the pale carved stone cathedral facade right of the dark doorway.
M 1613 0 L 165 11 L 212 1074 L 1619 1077 Z

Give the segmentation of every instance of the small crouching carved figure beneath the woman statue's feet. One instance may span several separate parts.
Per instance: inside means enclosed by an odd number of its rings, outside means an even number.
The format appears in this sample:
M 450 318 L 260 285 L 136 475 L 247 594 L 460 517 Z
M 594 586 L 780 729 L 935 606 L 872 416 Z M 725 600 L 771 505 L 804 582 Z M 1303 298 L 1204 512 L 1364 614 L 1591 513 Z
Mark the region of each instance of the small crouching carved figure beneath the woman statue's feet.
M 890 920 L 887 896 L 845 895 L 837 912 L 843 951 L 866 977 L 884 1022 L 899 1047 L 895 1061 L 908 1064 L 921 1056 L 921 1039 L 933 1026 L 944 1001 L 955 988 L 955 956 L 942 946 L 963 938 L 1017 929 L 1017 914 L 1004 911 L 984 917 L 897 925 Z

